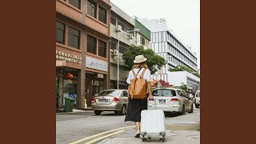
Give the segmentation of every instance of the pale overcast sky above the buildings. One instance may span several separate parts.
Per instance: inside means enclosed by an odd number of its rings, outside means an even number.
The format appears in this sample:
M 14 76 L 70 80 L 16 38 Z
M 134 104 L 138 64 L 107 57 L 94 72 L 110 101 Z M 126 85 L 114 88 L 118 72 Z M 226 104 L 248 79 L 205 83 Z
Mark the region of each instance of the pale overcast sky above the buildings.
M 167 26 L 197 53 L 200 69 L 200 0 L 110 0 L 130 16 L 166 18 Z

